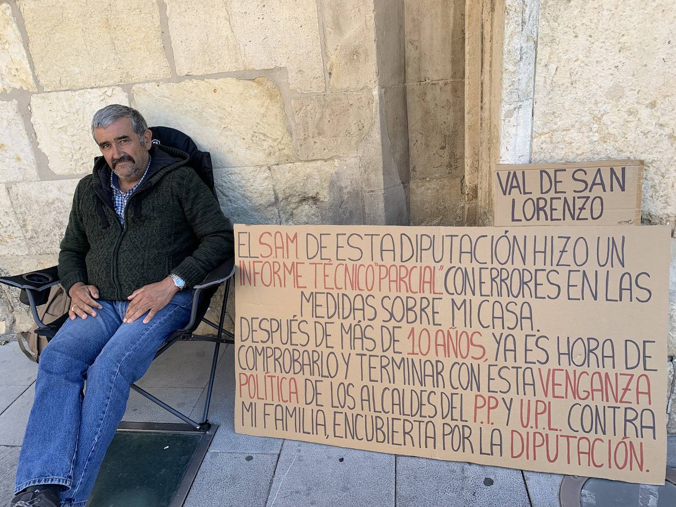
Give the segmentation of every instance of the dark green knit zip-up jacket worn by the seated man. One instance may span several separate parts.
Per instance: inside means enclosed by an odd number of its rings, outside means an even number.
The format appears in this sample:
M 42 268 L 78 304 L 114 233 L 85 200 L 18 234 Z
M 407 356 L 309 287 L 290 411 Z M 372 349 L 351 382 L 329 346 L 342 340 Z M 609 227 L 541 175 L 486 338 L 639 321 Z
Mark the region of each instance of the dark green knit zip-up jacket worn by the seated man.
M 73 196 L 59 252 L 66 291 L 76 282 L 95 285 L 99 298 L 124 300 L 170 273 L 199 284 L 234 254 L 233 226 L 187 153 L 153 146 L 143 183 L 127 201 L 124 227 L 115 214 L 111 170 L 103 157 Z

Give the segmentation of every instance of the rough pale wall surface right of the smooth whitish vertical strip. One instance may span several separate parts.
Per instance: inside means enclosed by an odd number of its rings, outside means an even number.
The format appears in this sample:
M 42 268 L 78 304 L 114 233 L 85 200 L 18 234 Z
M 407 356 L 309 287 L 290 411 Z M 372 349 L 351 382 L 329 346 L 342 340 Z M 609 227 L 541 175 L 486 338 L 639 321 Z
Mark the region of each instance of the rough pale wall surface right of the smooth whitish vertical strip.
M 670 0 L 543 2 L 539 14 L 533 162 L 645 160 L 651 223 L 676 219 L 675 26 Z

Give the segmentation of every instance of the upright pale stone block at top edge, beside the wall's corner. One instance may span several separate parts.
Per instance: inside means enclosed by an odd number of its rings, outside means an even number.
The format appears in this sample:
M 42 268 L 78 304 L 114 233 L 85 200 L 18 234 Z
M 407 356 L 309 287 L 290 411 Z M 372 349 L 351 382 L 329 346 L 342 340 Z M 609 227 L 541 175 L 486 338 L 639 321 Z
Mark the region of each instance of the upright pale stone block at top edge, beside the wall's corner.
M 374 87 L 378 77 L 372 0 L 321 0 L 321 5 L 329 89 Z

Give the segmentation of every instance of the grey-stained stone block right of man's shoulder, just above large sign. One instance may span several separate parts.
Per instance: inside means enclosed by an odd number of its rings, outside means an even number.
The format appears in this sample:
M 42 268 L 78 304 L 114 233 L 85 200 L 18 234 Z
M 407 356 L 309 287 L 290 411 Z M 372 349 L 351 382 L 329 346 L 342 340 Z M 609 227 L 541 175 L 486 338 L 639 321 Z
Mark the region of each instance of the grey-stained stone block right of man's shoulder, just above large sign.
M 233 224 L 279 224 L 268 166 L 214 169 L 218 201 Z

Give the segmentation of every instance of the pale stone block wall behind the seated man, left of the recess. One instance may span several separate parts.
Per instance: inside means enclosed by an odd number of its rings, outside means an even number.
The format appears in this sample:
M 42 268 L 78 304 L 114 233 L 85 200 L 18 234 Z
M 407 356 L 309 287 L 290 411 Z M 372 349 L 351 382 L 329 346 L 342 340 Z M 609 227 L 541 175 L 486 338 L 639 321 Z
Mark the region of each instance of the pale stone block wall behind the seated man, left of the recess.
M 210 151 L 233 222 L 408 224 L 403 13 L 401 0 L 0 0 L 0 272 L 55 264 L 98 154 L 91 117 L 110 103 Z M 0 334 L 28 329 L 18 293 L 0 291 Z

